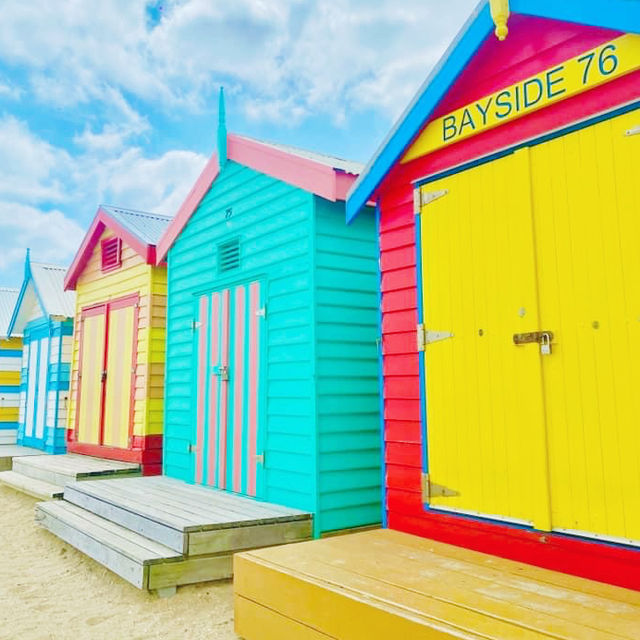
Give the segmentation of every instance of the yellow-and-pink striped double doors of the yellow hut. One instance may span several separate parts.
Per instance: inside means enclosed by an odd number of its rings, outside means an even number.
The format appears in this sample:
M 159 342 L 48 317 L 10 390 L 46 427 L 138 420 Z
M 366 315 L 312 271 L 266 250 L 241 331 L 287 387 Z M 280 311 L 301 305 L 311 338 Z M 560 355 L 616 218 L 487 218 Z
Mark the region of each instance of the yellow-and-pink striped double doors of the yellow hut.
M 138 296 L 82 312 L 76 439 L 126 449 L 133 430 Z

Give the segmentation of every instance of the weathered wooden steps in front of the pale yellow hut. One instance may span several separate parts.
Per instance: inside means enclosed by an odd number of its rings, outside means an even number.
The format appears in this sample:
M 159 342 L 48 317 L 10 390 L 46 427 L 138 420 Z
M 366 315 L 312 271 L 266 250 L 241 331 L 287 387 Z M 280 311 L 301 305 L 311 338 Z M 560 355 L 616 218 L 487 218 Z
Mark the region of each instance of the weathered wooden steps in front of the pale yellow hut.
M 0 483 L 36 498 L 49 499 L 61 498 L 69 482 L 139 475 L 140 465 L 135 463 L 72 453 L 44 454 L 14 457 L 11 470 L 0 472 Z

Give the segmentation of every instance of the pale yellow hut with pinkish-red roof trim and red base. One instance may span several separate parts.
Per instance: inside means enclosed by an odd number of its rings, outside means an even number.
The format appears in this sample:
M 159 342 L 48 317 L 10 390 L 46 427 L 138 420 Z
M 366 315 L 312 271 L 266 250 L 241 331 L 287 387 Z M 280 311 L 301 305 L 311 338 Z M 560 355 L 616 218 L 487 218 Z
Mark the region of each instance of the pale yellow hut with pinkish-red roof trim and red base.
M 171 218 L 102 205 L 64 280 L 75 291 L 67 448 L 161 472 Z

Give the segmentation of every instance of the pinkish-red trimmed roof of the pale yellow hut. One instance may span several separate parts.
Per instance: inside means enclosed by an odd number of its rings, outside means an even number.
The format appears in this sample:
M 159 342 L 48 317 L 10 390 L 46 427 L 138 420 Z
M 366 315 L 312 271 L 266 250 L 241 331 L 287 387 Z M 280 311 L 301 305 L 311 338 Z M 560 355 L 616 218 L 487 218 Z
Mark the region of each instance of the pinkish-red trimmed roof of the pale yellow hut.
M 100 205 L 64 279 L 65 291 L 75 290 L 100 236 L 105 229 L 127 243 L 147 264 L 156 265 L 157 239 L 169 225 L 168 216 Z

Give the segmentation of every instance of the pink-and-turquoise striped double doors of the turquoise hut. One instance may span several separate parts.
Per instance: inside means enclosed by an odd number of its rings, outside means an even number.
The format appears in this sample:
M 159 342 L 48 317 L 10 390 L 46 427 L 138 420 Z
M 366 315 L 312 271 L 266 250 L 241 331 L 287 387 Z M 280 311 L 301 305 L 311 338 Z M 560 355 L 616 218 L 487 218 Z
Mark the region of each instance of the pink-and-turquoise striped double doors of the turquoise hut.
M 260 497 L 263 491 L 260 282 L 200 296 L 194 480 Z

